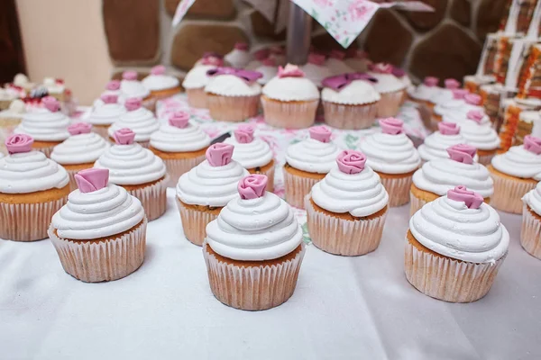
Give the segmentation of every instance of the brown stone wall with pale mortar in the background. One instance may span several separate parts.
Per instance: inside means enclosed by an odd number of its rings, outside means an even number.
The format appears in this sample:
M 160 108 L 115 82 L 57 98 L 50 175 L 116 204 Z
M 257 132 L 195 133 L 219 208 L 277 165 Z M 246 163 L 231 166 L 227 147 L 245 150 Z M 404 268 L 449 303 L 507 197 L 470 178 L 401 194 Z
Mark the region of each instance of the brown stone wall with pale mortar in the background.
M 484 37 L 496 31 L 509 0 L 424 0 L 433 14 L 380 10 L 352 46 L 376 61 L 405 67 L 417 78 L 462 78 L 472 74 Z M 236 41 L 252 49 L 284 43 L 286 31 L 241 0 L 197 0 L 187 17 L 171 27 L 179 0 L 103 0 L 105 36 L 115 77 L 135 67 L 141 76 L 162 63 L 182 77 L 205 51 L 225 54 Z M 275 20 L 278 14 L 275 14 Z M 312 43 L 341 49 L 316 21 Z

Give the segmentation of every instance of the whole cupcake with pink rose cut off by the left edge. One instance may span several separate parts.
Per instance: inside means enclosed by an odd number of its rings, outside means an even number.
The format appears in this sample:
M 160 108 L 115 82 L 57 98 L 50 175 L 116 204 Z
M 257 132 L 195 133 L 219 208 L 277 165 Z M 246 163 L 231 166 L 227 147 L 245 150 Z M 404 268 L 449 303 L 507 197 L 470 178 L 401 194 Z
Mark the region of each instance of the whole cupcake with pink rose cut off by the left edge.
M 0 238 L 47 238 L 52 215 L 68 198 L 68 173 L 43 153 L 32 151 L 32 141 L 26 134 L 5 140 L 10 155 L 0 158 Z

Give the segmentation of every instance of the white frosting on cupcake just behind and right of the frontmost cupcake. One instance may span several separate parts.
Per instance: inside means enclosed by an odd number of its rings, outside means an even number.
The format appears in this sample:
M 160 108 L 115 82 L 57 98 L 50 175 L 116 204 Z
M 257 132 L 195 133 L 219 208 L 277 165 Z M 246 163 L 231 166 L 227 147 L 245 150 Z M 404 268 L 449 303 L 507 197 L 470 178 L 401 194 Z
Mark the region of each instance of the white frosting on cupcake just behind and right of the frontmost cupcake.
M 312 200 L 326 211 L 361 218 L 387 206 L 389 194 L 370 166 L 358 174 L 344 174 L 335 166 L 312 187 Z

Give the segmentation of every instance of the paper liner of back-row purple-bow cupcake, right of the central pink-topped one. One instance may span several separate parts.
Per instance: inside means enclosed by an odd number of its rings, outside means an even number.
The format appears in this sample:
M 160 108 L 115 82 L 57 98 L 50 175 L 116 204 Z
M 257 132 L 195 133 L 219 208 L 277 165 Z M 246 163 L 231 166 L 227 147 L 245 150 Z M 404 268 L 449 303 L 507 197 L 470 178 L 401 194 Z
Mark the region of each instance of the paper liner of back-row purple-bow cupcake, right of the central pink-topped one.
M 378 103 L 347 105 L 323 102 L 325 122 L 336 129 L 360 130 L 370 128 L 376 121 Z

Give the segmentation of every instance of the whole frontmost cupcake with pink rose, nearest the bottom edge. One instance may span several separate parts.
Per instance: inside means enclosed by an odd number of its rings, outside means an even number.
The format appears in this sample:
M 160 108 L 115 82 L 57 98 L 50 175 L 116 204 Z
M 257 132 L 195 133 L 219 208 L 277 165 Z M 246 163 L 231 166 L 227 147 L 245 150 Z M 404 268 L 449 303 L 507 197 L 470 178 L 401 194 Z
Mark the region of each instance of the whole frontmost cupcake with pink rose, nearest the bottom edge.
M 203 257 L 210 290 L 235 309 L 261 311 L 287 302 L 305 253 L 289 205 L 265 192 L 265 175 L 249 175 L 206 227 Z

